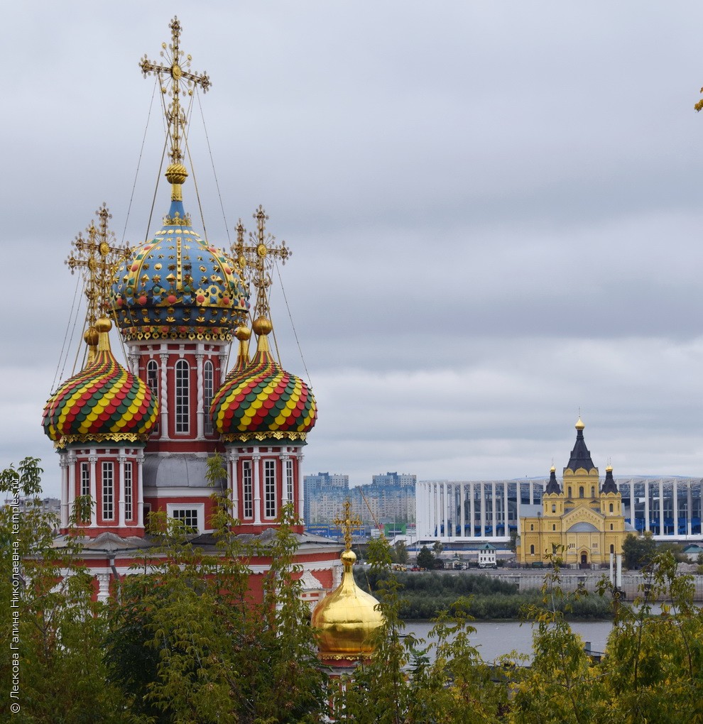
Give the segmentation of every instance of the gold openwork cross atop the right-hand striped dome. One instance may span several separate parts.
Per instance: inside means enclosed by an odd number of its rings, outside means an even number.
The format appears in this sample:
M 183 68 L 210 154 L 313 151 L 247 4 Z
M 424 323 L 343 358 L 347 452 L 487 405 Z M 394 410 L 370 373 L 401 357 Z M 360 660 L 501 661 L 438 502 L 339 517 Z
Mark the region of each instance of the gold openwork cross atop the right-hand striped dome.
M 256 209 L 253 218 L 256 219 L 256 235 L 249 232 L 249 244 L 245 245 L 245 228 L 242 225 L 242 219 L 240 219 L 237 224 L 237 243 L 235 243 L 231 251 L 242 271 L 244 271 L 245 267 L 251 269 L 251 282 L 256 287 L 254 316 L 264 316 L 270 319 L 269 300 L 266 293 L 266 290 L 271 286 L 269 271 L 277 259 L 281 260 L 281 264 L 285 264 L 286 259 L 292 255 L 292 251 L 286 246 L 285 241 L 277 244 L 276 237 L 266 233 L 266 222 L 269 217 L 266 216 L 263 206 Z

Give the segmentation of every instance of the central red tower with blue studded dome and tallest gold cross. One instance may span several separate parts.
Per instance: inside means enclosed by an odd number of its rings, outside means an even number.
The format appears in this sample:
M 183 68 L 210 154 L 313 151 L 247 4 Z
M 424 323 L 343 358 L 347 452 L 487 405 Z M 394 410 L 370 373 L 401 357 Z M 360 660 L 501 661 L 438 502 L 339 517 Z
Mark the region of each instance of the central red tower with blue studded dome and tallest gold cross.
M 188 172 L 182 164 L 186 117 L 180 96 L 196 88 L 204 93 L 211 83 L 206 74 L 190 72 L 176 18 L 170 28 L 172 42 L 163 44 L 162 62 L 145 56 L 140 67 L 145 77 L 156 75 L 162 93 L 171 97 L 166 110 L 171 162 L 165 173 L 171 206 L 161 229 L 119 269 L 113 311 L 130 369 L 161 407 L 144 460 L 147 509 L 165 510 L 202 532 L 209 528 L 212 505 L 207 459 L 221 449 L 209 408 L 249 303 L 237 264 L 195 232 L 184 208 Z

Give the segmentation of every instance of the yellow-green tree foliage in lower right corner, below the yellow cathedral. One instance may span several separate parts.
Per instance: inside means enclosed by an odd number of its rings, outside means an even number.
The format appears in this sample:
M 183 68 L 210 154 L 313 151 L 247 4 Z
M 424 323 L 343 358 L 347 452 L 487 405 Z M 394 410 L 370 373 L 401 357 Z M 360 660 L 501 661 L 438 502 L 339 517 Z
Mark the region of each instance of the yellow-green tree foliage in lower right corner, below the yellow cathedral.
M 684 724 L 701 720 L 703 613 L 693 604 L 691 576 L 676 571 L 671 552 L 655 555 L 641 596 L 620 602 L 613 595 L 615 622 L 599 661 L 586 656 L 559 603 L 584 595 L 560 590 L 555 566 L 545 578 L 542 604 L 531 608 L 534 658 L 516 674 L 508 721 Z M 652 602 L 659 600 L 661 613 Z

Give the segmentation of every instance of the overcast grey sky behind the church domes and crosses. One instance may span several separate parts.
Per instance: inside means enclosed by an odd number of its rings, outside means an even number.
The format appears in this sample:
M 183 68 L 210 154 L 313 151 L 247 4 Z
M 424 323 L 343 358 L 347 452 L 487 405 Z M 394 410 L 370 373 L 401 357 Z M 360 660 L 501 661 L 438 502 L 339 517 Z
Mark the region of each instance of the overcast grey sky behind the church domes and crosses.
M 58 494 L 64 259 L 103 201 L 146 237 L 138 62 L 174 13 L 213 84 L 188 162 L 209 241 L 262 203 L 293 251 L 305 363 L 279 290 L 272 312 L 319 405 L 307 473 L 542 475 L 580 409 L 601 471 L 703 475 L 699 0 L 4 4 L 3 467 L 38 456 Z M 192 173 L 184 195 L 202 230 Z

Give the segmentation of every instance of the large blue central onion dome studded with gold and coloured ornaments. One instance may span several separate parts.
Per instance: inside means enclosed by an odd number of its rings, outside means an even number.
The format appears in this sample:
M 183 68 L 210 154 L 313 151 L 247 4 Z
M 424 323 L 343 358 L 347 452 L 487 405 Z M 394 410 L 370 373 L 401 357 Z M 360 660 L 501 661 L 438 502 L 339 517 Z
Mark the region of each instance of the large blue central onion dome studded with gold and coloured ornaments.
M 224 340 L 249 308 L 240 270 L 193 230 L 180 185 L 188 174 L 171 164 L 172 201 L 164 226 L 138 247 L 112 287 L 125 340 Z

